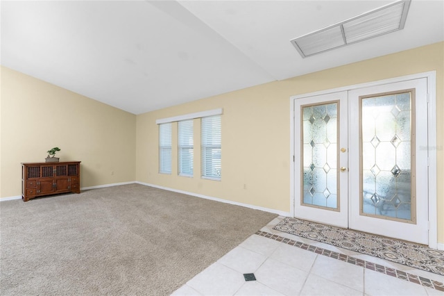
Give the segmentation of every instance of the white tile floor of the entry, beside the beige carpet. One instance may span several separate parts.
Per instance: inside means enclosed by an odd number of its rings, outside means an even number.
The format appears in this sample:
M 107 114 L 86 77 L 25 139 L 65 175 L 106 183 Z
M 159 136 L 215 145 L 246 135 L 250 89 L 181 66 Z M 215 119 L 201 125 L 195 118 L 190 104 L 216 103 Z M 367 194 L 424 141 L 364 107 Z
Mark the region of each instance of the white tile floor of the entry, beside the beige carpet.
M 271 221 L 258 231 L 261 235 L 250 236 L 173 295 L 444 295 L 444 276 L 273 230 L 282 218 Z M 302 249 L 264 237 L 264 233 L 314 247 Z M 314 249 L 327 249 L 407 276 L 397 278 L 388 271 L 350 264 Z M 247 273 L 255 274 L 256 281 L 246 281 Z

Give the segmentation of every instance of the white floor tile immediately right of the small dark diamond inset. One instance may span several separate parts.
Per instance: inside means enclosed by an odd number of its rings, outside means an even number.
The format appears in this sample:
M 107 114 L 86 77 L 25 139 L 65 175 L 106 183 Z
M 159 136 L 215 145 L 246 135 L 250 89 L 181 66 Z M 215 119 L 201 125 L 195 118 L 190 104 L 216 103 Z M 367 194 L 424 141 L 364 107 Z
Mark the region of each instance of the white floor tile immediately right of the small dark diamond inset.
M 284 295 L 298 295 L 308 272 L 268 258 L 255 272 L 259 283 Z

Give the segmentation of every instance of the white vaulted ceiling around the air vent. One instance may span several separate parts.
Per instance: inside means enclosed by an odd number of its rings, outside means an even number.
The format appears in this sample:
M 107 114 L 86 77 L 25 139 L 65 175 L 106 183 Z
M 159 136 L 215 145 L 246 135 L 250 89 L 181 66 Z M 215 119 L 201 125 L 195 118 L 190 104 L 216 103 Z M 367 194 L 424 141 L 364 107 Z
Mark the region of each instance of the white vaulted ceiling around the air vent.
M 302 58 L 290 40 L 393 1 L 1 1 L 1 65 L 140 114 L 444 40 L 444 1 L 404 29 Z

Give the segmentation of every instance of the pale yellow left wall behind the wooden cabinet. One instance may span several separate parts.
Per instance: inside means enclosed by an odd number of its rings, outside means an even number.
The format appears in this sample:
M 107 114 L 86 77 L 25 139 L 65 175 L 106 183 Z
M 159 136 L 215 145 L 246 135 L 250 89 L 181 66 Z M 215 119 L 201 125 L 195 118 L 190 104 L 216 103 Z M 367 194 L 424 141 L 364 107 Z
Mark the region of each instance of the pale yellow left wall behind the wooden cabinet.
M 135 181 L 135 115 L 6 67 L 0 95 L 0 197 L 21 195 L 20 163 L 52 147 L 82 161 L 82 188 Z

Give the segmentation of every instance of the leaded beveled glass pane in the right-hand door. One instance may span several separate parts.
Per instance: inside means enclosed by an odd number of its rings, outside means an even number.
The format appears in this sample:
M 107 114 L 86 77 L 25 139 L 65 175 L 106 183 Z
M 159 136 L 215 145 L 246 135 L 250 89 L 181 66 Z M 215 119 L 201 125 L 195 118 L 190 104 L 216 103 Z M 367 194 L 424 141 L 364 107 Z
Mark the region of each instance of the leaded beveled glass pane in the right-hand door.
M 361 99 L 361 214 L 412 220 L 410 92 Z

